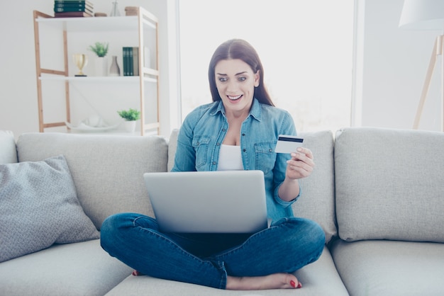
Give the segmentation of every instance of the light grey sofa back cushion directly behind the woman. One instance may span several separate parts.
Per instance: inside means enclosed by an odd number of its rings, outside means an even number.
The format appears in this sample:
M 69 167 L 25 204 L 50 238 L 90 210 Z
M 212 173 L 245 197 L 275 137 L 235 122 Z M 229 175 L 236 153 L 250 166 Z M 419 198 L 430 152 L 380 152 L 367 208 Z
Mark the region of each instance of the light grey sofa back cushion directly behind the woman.
M 168 171 L 174 166 L 178 130 L 173 130 L 168 148 Z M 294 215 L 318 222 L 326 233 L 326 242 L 337 234 L 335 226 L 335 184 L 333 166 L 333 133 L 301 132 L 304 147 L 314 154 L 316 167 L 308 178 L 301 179 L 301 198 L 292 205 Z

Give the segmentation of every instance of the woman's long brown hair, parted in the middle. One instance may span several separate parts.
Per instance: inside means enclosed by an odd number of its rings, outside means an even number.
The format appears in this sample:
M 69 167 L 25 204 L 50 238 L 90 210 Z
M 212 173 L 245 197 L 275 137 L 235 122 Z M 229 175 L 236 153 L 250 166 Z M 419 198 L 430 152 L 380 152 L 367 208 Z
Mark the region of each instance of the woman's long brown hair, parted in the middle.
M 264 84 L 264 68 L 262 67 L 262 62 L 260 62 L 259 55 L 257 55 L 255 48 L 250 43 L 242 39 L 231 39 L 223 42 L 217 47 L 213 57 L 211 57 L 208 79 L 213 102 L 221 101 L 222 99 L 216 87 L 216 75 L 214 72 L 216 64 L 223 59 L 241 59 L 251 67 L 252 72 L 256 73 L 259 71 L 259 86 L 255 87 L 254 96 L 260 103 L 274 106 Z

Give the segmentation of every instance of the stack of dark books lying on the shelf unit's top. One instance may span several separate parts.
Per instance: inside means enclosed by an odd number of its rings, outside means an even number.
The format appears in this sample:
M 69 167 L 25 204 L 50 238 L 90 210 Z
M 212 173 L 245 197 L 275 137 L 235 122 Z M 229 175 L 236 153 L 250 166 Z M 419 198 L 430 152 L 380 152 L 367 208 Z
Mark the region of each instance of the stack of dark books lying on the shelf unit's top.
M 93 16 L 93 4 L 87 0 L 55 0 L 55 18 Z

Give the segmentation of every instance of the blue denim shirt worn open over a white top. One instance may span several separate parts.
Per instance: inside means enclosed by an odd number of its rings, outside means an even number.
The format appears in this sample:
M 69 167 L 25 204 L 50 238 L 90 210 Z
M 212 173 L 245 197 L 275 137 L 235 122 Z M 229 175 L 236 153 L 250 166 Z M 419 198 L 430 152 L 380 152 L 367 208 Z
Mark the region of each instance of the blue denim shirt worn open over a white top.
M 222 101 L 199 106 L 187 115 L 177 136 L 172 171 L 216 171 L 221 144 L 228 130 Z M 292 203 L 279 198 L 290 154 L 277 154 L 279 135 L 296 135 L 292 116 L 285 110 L 253 100 L 250 115 L 240 128 L 240 150 L 245 170 L 261 170 L 265 176 L 267 215 L 276 221 L 293 217 Z

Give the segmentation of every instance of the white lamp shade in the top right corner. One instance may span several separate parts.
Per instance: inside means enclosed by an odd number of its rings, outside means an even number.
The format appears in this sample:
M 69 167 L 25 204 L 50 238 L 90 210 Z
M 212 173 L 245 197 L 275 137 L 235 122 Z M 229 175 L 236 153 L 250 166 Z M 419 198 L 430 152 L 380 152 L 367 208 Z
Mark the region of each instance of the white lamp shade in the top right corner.
M 444 0 L 404 0 L 399 28 L 444 30 Z

